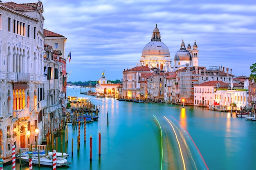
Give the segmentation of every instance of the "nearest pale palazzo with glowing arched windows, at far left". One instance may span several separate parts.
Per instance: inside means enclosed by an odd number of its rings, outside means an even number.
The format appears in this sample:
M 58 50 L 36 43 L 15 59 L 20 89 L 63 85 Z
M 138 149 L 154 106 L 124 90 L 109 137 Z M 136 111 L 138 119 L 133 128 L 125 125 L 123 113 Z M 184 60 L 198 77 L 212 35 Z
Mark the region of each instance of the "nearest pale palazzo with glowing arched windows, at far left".
M 43 4 L 0 3 L 0 140 L 2 157 L 11 145 L 25 148 L 43 138 L 38 124 L 43 75 Z

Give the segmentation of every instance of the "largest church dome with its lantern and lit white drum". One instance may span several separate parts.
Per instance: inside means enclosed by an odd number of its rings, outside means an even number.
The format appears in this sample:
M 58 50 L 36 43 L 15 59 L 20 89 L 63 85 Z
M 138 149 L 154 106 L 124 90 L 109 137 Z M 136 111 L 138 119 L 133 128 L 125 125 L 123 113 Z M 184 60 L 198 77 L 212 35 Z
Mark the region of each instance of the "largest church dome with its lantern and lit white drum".
M 171 57 L 168 47 L 161 41 L 161 36 L 157 24 L 151 37 L 151 41 L 146 44 L 142 51 L 141 66 L 149 68 L 159 68 L 165 72 L 172 71 Z

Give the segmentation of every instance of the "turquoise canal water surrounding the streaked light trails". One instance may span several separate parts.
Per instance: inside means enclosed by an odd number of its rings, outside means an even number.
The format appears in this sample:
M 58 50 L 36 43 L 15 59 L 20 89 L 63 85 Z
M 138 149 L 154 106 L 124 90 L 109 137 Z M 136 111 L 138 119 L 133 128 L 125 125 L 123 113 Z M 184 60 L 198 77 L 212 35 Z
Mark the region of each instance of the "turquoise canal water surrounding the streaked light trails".
M 77 151 L 78 128 L 68 125 L 67 158 L 70 167 L 85 170 L 160 170 L 161 138 L 155 117 L 173 117 L 187 130 L 200 150 L 210 170 L 255 169 L 256 121 L 237 118 L 235 114 L 220 113 L 204 108 L 171 104 L 132 103 L 114 98 L 96 98 L 80 94 L 80 89 L 68 89 L 67 96 L 87 97 L 100 106 L 98 121 L 86 124 L 86 142 L 81 126 L 81 145 Z M 107 113 L 108 120 L 107 123 Z M 99 157 L 99 132 L 101 156 Z M 64 134 L 59 132 L 58 135 Z M 92 162 L 90 162 L 92 135 Z M 72 152 L 74 139 L 74 154 Z M 167 148 L 163 148 L 164 150 Z M 168 162 L 167 162 L 168 163 Z M 4 170 L 11 170 L 11 165 Z M 21 168 L 28 170 L 23 163 Z M 33 166 L 33 169 L 39 169 Z M 41 167 L 42 170 L 51 168 Z M 182 169 L 182 168 L 179 168 Z M 188 168 L 189 169 L 189 168 Z

